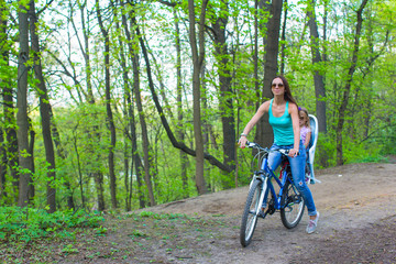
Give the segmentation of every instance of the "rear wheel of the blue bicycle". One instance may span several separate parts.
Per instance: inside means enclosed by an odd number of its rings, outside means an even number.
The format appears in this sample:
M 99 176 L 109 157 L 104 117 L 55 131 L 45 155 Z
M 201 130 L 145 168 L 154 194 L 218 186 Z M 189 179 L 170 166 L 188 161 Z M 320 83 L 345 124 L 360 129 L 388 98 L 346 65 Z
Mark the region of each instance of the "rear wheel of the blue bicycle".
M 288 177 L 290 177 L 290 175 L 288 175 Z M 290 180 L 286 180 L 285 183 L 282 205 L 282 223 L 287 229 L 297 227 L 304 215 L 305 200 Z

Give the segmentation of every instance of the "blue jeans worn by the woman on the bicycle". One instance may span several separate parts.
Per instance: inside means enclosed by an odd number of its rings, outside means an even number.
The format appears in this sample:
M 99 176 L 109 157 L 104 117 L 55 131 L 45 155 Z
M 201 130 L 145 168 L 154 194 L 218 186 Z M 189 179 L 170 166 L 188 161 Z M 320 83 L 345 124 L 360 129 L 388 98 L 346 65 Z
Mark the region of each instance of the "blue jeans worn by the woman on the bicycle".
M 276 145 L 275 143 L 271 146 L 271 151 L 276 151 L 279 148 L 290 150 L 294 145 Z M 312 198 L 312 194 L 308 188 L 308 185 L 305 182 L 305 164 L 307 160 L 306 148 L 300 142 L 299 145 L 299 155 L 295 157 L 287 156 L 290 163 L 293 182 L 297 187 L 298 191 L 304 197 L 304 200 L 307 205 L 308 216 L 316 216 L 316 207 Z M 279 152 L 270 152 L 268 154 L 268 166 L 275 170 L 282 162 L 282 154 Z

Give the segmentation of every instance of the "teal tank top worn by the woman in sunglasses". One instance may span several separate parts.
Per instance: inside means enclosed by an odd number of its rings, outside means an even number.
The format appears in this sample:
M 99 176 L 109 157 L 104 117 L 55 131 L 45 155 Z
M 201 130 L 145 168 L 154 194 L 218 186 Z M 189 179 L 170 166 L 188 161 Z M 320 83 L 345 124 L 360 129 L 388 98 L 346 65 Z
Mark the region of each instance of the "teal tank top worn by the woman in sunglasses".
M 270 124 L 274 131 L 274 143 L 277 145 L 293 145 L 294 144 L 294 131 L 292 117 L 288 113 L 288 101 L 286 101 L 285 112 L 282 117 L 276 118 L 272 113 L 272 103 L 270 103 Z

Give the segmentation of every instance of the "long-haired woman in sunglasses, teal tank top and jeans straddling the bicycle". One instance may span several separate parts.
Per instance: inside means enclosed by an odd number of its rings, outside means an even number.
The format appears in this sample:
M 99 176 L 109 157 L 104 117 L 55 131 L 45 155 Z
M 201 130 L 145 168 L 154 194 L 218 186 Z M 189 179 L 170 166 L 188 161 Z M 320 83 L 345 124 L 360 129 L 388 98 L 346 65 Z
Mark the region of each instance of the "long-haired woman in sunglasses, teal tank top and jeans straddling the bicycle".
M 274 131 L 274 143 L 268 155 L 268 165 L 275 170 L 282 160 L 278 148 L 289 150 L 288 160 L 292 167 L 293 180 L 302 195 L 308 209 L 309 223 L 307 233 L 314 233 L 319 220 L 312 194 L 305 182 L 306 150 L 300 140 L 299 114 L 296 100 L 292 96 L 289 85 L 285 77 L 277 76 L 271 86 L 274 98 L 260 106 L 257 112 L 249 121 L 241 134 L 239 144 L 242 148 L 248 142 L 248 134 L 264 113 L 270 114 L 270 124 Z

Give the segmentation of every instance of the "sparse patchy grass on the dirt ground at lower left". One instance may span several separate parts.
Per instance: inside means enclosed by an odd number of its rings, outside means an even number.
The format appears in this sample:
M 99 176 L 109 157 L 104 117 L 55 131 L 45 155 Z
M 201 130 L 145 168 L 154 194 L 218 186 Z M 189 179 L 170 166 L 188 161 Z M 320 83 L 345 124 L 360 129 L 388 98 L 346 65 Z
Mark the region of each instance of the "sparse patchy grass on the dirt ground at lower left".
M 202 245 L 213 239 L 221 240 L 224 237 L 221 230 L 227 226 L 223 216 L 205 219 L 142 211 L 101 218 L 92 227 L 57 228 L 29 242 L 4 240 L 0 244 L 0 263 L 56 263 L 59 260 L 78 263 L 87 258 L 162 263 L 180 256 L 190 258 L 205 253 Z

